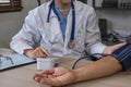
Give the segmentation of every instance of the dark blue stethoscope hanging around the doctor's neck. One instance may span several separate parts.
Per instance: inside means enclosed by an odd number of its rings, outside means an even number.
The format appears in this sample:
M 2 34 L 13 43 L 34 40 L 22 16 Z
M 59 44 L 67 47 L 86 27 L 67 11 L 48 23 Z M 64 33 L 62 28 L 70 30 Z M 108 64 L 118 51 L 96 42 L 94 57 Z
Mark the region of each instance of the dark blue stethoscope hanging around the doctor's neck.
M 68 44 L 68 47 L 70 49 L 74 48 L 75 42 L 74 42 L 74 32 L 75 32 L 75 10 L 74 10 L 74 4 L 73 1 L 71 1 L 71 7 L 72 7 L 72 29 L 71 29 L 71 37 Z M 55 14 L 58 17 L 58 21 L 60 22 L 60 17 L 58 16 L 58 13 L 55 9 L 55 0 L 52 0 L 52 2 L 49 4 L 49 11 L 48 11 L 48 15 L 47 15 L 47 23 L 49 23 L 49 18 L 50 18 L 50 14 L 51 14 L 51 10 L 55 12 Z

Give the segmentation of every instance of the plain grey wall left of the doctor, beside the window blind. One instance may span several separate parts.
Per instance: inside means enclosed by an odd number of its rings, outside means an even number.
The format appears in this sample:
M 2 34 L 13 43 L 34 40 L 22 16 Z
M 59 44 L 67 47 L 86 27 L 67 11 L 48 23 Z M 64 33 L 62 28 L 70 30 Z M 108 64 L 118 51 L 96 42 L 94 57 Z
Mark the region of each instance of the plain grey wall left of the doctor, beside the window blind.
M 22 5 L 21 12 L 0 13 L 0 48 L 10 47 L 12 36 L 21 29 L 28 11 L 37 7 L 37 0 L 22 0 Z

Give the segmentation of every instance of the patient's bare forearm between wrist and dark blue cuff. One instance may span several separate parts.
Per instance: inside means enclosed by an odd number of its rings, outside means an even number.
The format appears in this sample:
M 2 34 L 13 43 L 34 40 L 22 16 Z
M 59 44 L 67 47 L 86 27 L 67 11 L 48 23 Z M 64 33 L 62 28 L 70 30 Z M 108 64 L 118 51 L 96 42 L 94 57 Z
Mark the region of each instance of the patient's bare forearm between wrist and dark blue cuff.
M 118 60 L 112 57 L 106 57 L 86 66 L 74 70 L 76 76 L 75 83 L 108 76 L 121 70 L 122 66 Z

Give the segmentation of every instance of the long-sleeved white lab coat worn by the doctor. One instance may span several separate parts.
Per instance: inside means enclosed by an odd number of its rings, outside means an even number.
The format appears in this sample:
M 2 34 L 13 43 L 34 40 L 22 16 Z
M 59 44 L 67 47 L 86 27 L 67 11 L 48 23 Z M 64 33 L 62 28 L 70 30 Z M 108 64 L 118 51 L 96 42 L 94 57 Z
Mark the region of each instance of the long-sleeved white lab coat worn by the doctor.
M 60 23 L 51 11 L 49 23 L 47 15 L 50 2 L 29 11 L 25 18 L 22 29 L 12 38 L 11 48 L 23 53 L 24 49 L 32 49 L 34 45 L 46 48 L 50 54 L 59 57 L 79 58 L 83 50 L 91 53 L 102 53 L 106 48 L 100 44 L 100 34 L 97 25 L 96 14 L 93 8 L 80 1 L 74 2 L 75 7 L 75 47 L 68 47 L 71 27 L 72 10 L 68 14 L 66 39 L 63 42 Z

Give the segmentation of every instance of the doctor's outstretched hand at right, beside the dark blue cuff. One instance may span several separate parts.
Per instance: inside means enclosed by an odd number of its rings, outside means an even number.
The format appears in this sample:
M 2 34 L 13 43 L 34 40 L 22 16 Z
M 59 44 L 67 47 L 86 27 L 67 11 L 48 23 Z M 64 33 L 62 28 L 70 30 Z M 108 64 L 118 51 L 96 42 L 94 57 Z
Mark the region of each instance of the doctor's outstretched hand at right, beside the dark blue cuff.
M 104 54 L 111 54 L 115 50 L 117 50 L 118 48 L 124 46 L 127 42 L 121 42 L 121 44 L 118 44 L 118 45 L 115 45 L 115 46 L 109 46 L 107 48 L 105 48 L 104 50 Z

